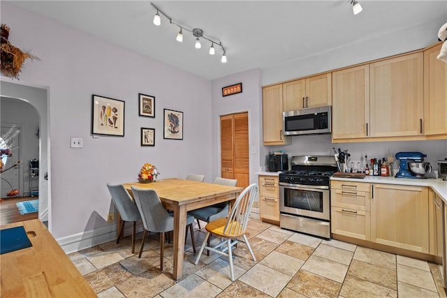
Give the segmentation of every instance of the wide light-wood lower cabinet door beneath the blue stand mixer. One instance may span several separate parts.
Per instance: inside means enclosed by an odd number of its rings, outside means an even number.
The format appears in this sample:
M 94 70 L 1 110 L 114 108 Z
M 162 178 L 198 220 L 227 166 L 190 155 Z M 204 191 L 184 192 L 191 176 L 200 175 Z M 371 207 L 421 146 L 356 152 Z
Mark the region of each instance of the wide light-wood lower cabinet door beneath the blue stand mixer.
M 428 188 L 373 184 L 371 241 L 429 253 Z

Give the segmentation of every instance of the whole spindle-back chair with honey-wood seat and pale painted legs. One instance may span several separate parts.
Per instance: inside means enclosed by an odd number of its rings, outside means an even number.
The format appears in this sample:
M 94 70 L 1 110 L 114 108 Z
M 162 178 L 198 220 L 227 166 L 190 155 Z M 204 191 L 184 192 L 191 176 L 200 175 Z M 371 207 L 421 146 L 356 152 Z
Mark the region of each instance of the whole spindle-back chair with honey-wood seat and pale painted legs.
M 205 248 L 210 251 L 214 251 L 214 253 L 226 255 L 230 262 L 231 281 L 234 281 L 235 274 L 233 270 L 232 248 L 235 244 L 237 244 L 237 241 L 242 241 L 247 244 L 251 258 L 253 258 L 254 262 L 256 262 L 256 258 L 251 250 L 249 240 L 245 235 L 245 230 L 247 229 L 247 224 L 249 222 L 251 206 L 253 206 L 253 202 L 257 195 L 258 184 L 251 184 L 250 186 L 247 186 L 247 188 L 245 188 L 244 191 L 242 191 L 242 193 L 240 193 L 237 197 L 228 218 L 219 218 L 215 221 L 211 221 L 205 226 L 207 234 L 205 235 L 205 239 L 203 239 L 202 246 L 200 246 L 200 251 L 198 252 L 196 262 L 194 262 L 194 264 L 198 264 L 200 256 Z M 223 241 L 216 246 L 207 246 L 207 239 L 211 234 L 221 237 Z M 242 237 L 242 239 L 240 237 Z M 226 247 L 224 247 L 225 244 Z

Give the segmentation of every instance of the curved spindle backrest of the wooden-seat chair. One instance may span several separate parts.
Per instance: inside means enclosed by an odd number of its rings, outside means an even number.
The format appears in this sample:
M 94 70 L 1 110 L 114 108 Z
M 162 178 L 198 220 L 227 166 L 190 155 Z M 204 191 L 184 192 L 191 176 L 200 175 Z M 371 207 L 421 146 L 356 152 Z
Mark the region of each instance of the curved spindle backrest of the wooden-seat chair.
M 226 222 L 223 234 L 244 234 L 249 221 L 251 207 L 258 195 L 258 184 L 251 184 L 237 197 L 230 216 Z

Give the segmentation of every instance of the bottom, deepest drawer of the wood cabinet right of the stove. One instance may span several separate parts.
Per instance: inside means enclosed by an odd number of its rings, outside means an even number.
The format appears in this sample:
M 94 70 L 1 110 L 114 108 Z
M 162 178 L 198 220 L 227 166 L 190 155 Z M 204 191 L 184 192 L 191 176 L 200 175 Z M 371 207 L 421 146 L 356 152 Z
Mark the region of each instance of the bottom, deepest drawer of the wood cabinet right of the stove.
M 370 218 L 371 214 L 362 210 L 331 207 L 331 232 L 369 241 Z

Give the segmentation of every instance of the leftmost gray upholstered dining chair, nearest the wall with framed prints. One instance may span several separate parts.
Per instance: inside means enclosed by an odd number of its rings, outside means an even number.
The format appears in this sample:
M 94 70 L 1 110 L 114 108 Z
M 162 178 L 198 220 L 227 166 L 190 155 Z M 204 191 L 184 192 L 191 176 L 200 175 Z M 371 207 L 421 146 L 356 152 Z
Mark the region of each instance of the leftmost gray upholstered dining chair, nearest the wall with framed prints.
M 119 216 L 122 219 L 122 223 L 119 225 L 118 229 L 117 243 L 119 243 L 119 239 L 123 237 L 124 223 L 126 223 L 126 221 L 132 222 L 132 253 L 135 253 L 135 228 L 137 221 L 141 221 L 140 211 L 138 211 L 135 201 L 132 199 L 131 195 L 129 195 L 129 191 L 126 191 L 126 188 L 124 188 L 122 184 L 112 185 L 108 183 L 107 188 L 110 195 L 112 195 L 113 204 L 115 204 Z

